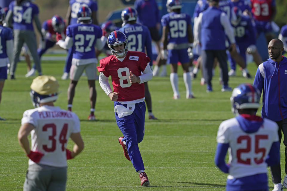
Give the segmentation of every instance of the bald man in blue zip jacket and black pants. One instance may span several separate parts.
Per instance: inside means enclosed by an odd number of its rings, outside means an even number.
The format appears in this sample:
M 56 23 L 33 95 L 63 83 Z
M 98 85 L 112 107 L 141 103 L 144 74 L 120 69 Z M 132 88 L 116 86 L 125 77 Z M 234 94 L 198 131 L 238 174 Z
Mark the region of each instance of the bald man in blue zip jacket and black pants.
M 262 118 L 275 121 L 278 126 L 279 142 L 282 133 L 285 145 L 285 174 L 287 174 L 287 58 L 282 56 L 283 42 L 279 39 L 272 39 L 268 44 L 270 58 L 260 64 L 257 68 L 253 85 L 260 92 L 263 90 L 262 97 Z M 258 145 L 258 144 L 257 144 Z M 258 148 L 260 150 L 260 144 Z M 287 175 L 285 175 L 283 186 L 281 184 L 280 164 L 270 167 L 273 191 L 287 188 Z

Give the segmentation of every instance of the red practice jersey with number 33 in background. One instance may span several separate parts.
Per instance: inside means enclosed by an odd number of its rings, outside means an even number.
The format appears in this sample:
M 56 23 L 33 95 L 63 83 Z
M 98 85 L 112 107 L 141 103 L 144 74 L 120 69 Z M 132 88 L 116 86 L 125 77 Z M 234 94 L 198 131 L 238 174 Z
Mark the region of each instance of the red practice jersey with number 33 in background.
M 257 21 L 270 21 L 275 0 L 251 0 L 251 12 Z

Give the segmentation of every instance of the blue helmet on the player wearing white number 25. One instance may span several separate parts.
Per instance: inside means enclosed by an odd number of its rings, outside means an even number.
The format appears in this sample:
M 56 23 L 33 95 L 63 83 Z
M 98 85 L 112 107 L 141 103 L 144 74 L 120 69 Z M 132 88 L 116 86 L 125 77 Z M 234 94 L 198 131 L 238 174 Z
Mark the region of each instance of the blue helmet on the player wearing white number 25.
M 238 114 L 238 109 L 258 109 L 260 96 L 260 91 L 251 84 L 240 84 L 230 97 L 232 112 Z

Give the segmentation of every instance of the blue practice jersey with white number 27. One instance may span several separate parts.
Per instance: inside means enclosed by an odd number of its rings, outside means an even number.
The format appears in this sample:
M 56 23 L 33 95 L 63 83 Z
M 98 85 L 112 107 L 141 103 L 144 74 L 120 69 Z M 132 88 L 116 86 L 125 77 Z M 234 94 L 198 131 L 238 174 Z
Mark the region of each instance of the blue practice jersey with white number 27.
M 67 27 L 66 35 L 73 38 L 75 51 L 73 58 L 96 58 L 95 43 L 102 37 L 102 29 L 95 24 L 72 24 Z

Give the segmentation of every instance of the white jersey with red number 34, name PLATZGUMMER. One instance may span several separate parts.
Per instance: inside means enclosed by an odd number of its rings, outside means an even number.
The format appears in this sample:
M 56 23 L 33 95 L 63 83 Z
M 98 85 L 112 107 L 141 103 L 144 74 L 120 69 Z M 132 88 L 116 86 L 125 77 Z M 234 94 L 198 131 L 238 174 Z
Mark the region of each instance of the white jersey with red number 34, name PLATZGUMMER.
M 34 126 L 31 131 L 31 150 L 44 154 L 39 164 L 67 167 L 66 146 L 69 137 L 71 133 L 80 132 L 80 120 L 75 113 L 45 105 L 26 110 L 21 123 Z M 29 159 L 31 164 L 35 162 Z

